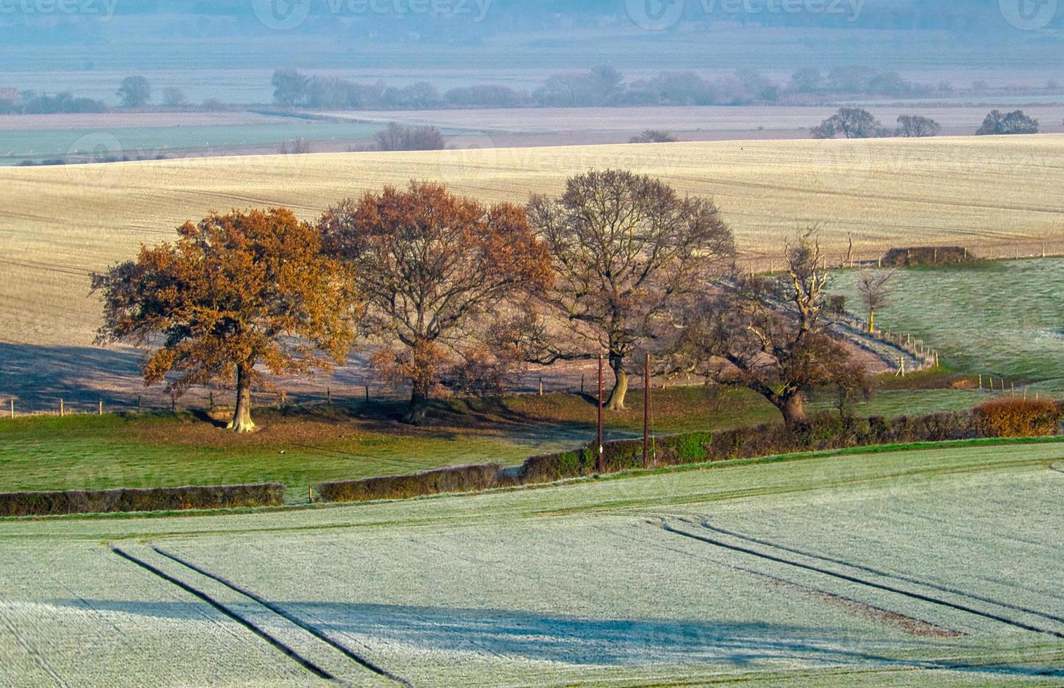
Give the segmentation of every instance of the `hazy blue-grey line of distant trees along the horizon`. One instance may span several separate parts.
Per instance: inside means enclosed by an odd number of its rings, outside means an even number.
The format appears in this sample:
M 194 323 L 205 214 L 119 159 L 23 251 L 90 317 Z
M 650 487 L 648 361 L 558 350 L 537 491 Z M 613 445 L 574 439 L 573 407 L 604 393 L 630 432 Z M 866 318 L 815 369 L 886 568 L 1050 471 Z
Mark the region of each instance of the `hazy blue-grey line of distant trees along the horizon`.
M 609 107 L 632 105 L 816 104 L 852 96 L 918 98 L 946 96 L 952 84 L 924 84 L 895 71 L 870 67 L 815 68 L 795 71 L 781 84 L 754 69 L 706 79 L 694 71 L 663 71 L 629 82 L 609 65 L 550 75 L 532 91 L 499 84 L 478 84 L 440 91 L 427 81 L 409 86 L 382 81 L 360 83 L 342 77 L 307 74 L 297 69 L 273 72 L 273 102 L 312 110 L 436 110 L 446 107 Z M 977 83 L 980 89 L 988 86 Z M 1047 88 L 1059 85 L 1047 83 Z

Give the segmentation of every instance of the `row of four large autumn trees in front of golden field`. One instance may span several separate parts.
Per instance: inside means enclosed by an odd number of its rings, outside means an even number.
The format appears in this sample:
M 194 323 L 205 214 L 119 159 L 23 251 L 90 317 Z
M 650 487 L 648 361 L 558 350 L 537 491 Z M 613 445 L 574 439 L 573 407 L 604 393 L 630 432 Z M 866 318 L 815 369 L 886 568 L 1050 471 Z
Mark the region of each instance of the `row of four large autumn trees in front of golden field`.
M 492 395 L 528 364 L 603 356 L 609 399 L 653 353 L 656 374 L 748 387 L 805 422 L 811 389 L 861 389 L 864 371 L 828 332 L 828 271 L 815 231 L 780 279 L 734 267 L 709 198 L 627 170 L 569 179 L 560 196 L 485 205 L 428 182 L 338 202 L 315 222 L 285 208 L 212 214 L 173 242 L 93 275 L 99 341 L 150 350 L 148 384 L 235 390 L 231 427 L 254 430 L 252 390 L 328 371 L 354 342 L 410 390 Z

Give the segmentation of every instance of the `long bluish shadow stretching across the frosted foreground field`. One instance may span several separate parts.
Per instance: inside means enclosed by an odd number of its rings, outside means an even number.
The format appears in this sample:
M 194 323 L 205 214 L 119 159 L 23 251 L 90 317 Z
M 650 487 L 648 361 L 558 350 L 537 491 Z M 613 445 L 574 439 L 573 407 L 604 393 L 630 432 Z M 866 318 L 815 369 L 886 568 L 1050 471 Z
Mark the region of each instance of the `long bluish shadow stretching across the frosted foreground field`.
M 52 604 L 118 611 L 144 617 L 185 620 L 211 614 L 206 604 L 188 602 L 126 602 L 59 600 Z M 998 665 L 992 667 L 902 659 L 891 651 L 929 656 L 952 654 L 947 641 L 899 642 L 855 640 L 852 634 L 824 627 L 774 623 L 736 623 L 686 619 L 588 619 L 512 609 L 473 609 L 395 604 L 275 602 L 302 622 L 339 642 L 358 636 L 353 647 L 368 643 L 406 645 L 422 651 L 502 655 L 516 660 L 571 666 L 712 665 L 727 669 L 778 669 L 780 662 L 810 667 L 860 666 L 898 669 L 949 669 L 986 676 L 1064 676 L 1064 669 Z M 240 614 L 263 608 L 246 602 L 229 605 Z M 369 640 L 366 640 L 366 637 Z M 941 652 L 940 652 L 941 651 Z M 455 656 L 455 662 L 460 657 Z

